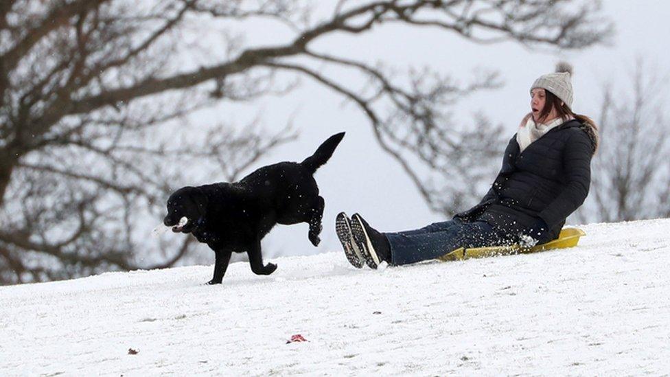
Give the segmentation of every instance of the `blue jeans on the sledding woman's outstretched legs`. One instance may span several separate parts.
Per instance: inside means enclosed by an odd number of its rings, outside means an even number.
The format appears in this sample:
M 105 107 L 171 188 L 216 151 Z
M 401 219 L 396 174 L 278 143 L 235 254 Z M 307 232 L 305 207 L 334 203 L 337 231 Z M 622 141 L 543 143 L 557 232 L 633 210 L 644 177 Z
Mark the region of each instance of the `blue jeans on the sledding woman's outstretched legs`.
M 503 244 L 487 222 L 454 220 L 434 222 L 427 227 L 397 233 L 384 233 L 391 244 L 391 264 L 400 266 L 441 257 L 461 247 L 486 247 Z

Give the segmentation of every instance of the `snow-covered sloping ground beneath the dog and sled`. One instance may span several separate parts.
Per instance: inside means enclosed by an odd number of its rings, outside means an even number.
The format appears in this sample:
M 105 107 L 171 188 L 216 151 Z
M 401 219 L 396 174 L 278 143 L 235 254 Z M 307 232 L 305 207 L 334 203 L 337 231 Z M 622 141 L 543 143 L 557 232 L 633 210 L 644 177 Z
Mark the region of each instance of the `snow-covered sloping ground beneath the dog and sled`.
M 669 374 L 670 219 L 582 229 L 384 271 L 325 253 L 220 286 L 197 266 L 2 287 L 0 375 Z

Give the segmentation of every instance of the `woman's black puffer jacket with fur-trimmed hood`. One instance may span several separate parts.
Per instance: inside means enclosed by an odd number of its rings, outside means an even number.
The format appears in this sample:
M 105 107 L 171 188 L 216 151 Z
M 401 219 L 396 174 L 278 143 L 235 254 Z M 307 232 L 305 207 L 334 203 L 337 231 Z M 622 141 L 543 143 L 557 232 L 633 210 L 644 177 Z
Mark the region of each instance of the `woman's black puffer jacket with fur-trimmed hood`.
M 488 222 L 512 242 L 530 234 L 542 219 L 548 232 L 538 241 L 553 240 L 588 195 L 596 148 L 593 128 L 574 119 L 549 130 L 521 153 L 514 135 L 489 192 L 478 205 L 454 217 Z

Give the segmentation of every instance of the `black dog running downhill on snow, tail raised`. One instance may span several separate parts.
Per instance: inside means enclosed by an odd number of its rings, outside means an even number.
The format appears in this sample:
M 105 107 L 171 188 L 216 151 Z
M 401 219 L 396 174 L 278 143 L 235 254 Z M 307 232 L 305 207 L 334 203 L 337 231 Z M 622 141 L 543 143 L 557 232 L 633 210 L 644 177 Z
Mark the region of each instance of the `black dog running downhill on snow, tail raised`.
M 221 283 L 233 251 L 249 254 L 253 273 L 273 273 L 275 264 L 263 264 L 261 240 L 277 224 L 308 222 L 310 241 L 319 244 L 325 203 L 313 174 L 330 159 L 344 135 L 331 136 L 301 163 L 275 163 L 239 182 L 187 186 L 170 195 L 163 223 L 174 232 L 192 233 L 216 253 L 214 277 L 208 284 Z M 180 222 L 183 217 L 186 224 Z

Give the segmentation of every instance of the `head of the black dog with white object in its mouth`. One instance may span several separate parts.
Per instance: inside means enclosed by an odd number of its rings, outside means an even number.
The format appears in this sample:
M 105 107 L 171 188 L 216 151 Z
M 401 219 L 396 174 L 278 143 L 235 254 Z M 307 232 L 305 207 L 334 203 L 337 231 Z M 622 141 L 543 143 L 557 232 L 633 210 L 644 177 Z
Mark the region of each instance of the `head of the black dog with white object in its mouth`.
M 167 199 L 167 216 L 163 220 L 172 231 L 189 233 L 194 231 L 204 219 L 207 209 L 207 195 L 198 187 L 182 187 Z M 181 218 L 187 218 L 185 225 L 179 225 Z

